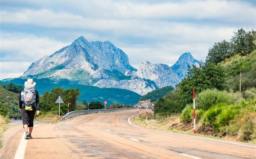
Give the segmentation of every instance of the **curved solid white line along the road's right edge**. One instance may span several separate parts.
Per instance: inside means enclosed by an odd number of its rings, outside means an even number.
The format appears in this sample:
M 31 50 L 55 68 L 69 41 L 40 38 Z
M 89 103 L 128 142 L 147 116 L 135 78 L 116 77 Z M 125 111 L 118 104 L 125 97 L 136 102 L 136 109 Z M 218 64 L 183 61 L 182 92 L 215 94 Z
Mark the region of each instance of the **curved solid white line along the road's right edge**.
M 137 114 L 133 115 L 133 116 L 136 116 Z M 134 124 L 131 123 L 131 117 L 133 116 L 130 116 L 128 118 L 128 122 L 130 125 L 136 127 L 136 128 L 140 128 Z M 158 132 L 162 132 L 162 133 L 171 133 L 171 132 L 166 132 L 166 131 L 159 131 L 159 130 L 153 130 L 153 129 L 146 129 L 146 128 L 140 128 L 140 129 L 145 129 L 145 130 L 150 130 L 150 131 L 158 131 Z M 185 134 L 180 134 L 180 133 L 171 133 L 171 134 L 174 134 L 174 135 L 180 135 L 180 136 L 188 136 L 188 137 L 194 137 L 194 138 L 198 138 L 198 139 L 206 139 L 206 140 L 211 140 L 211 141 L 217 141 L 217 142 L 225 142 L 225 143 L 229 143 L 229 144 L 234 144 L 234 145 L 240 145 L 240 146 L 247 146 L 247 147 L 251 147 L 251 148 L 256 148 L 256 146 L 252 146 L 252 145 L 245 145 L 245 144 L 239 144 L 239 143 L 235 143 L 235 142 L 228 142 L 228 141 L 222 141 L 222 140 L 216 140 L 216 139 L 208 139 L 208 138 L 203 138 L 203 137 L 198 137 L 198 136 L 190 136 L 190 135 L 185 135 Z

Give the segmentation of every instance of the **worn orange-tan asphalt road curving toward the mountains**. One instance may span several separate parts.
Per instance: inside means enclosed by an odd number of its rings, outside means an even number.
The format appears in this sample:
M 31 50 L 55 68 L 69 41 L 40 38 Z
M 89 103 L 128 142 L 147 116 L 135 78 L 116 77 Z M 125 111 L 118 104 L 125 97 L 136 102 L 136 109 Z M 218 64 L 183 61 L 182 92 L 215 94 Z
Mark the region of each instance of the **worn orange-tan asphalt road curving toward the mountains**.
M 255 145 L 135 127 L 128 118 L 136 112 L 90 114 L 58 124 L 39 125 L 33 130 L 34 138 L 26 140 L 24 150 L 20 148 L 24 144 L 23 133 L 18 131 L 15 138 L 9 139 L 9 150 L 5 149 L 8 155 L 3 157 L 13 158 L 16 154 L 24 159 L 256 158 Z

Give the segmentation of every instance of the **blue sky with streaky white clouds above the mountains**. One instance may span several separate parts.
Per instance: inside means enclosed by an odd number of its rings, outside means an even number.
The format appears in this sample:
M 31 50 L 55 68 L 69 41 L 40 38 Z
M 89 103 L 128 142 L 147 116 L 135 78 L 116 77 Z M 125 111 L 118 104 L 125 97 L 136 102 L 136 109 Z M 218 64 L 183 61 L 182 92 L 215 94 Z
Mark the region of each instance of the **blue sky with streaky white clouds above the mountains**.
M 256 30 L 255 0 L 0 0 L 0 80 L 80 36 L 111 41 L 137 68 L 184 52 L 204 61 L 239 28 Z

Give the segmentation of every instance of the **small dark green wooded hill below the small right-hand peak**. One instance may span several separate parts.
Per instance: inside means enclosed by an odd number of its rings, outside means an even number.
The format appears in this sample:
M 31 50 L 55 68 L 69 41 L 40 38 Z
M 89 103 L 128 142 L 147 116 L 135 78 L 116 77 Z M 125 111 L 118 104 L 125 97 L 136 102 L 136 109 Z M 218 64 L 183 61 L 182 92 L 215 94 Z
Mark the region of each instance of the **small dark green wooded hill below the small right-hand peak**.
M 172 86 L 166 86 L 163 88 L 159 88 L 159 89 L 151 91 L 148 94 L 140 97 L 140 101 L 150 99 L 151 102 L 156 102 L 157 99 L 163 98 L 166 94 L 168 94 L 170 91 L 173 91 L 173 90 L 174 90 L 174 88 Z

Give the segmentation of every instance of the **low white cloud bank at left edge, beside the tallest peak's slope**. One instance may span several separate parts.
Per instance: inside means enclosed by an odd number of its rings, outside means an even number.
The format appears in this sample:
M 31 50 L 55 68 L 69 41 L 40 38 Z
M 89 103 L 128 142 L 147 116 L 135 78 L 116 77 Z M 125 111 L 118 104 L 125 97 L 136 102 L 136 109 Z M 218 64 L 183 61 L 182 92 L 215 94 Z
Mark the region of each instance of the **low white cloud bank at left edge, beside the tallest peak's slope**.
M 31 34 L 1 34 L 1 61 L 35 62 L 44 55 L 69 45 L 47 37 L 36 37 Z

